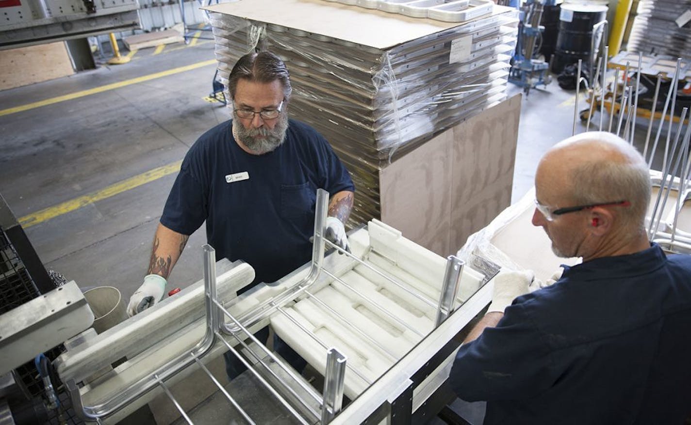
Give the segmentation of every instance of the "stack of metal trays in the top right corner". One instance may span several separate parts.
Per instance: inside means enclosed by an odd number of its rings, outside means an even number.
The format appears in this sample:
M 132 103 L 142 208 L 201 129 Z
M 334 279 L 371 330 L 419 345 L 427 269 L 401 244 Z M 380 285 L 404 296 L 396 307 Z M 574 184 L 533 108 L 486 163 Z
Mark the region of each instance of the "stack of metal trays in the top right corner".
M 691 0 L 641 0 L 627 50 L 691 58 Z

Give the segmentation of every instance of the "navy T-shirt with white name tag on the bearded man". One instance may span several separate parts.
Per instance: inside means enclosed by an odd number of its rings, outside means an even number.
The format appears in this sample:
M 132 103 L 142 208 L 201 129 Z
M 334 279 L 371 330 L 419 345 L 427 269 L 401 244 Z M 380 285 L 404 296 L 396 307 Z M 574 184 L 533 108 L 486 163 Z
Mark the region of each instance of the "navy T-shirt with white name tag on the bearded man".
M 187 152 L 160 221 L 191 235 L 206 220 L 217 259 L 242 259 L 256 272 L 253 284 L 272 282 L 310 260 L 317 188 L 354 190 L 316 130 L 291 119 L 281 146 L 251 155 L 226 121 Z

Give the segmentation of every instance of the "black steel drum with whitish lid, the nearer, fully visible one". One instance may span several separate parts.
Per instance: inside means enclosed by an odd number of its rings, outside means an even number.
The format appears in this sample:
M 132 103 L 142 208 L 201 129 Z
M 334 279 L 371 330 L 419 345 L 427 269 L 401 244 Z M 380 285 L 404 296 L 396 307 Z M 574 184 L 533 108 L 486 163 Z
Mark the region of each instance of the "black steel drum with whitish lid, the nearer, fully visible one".
M 588 63 L 593 38 L 593 26 L 607 18 L 607 6 L 563 3 L 559 14 L 559 34 L 552 72 L 558 74 L 565 66 L 583 59 Z M 595 46 L 602 31 L 596 32 Z

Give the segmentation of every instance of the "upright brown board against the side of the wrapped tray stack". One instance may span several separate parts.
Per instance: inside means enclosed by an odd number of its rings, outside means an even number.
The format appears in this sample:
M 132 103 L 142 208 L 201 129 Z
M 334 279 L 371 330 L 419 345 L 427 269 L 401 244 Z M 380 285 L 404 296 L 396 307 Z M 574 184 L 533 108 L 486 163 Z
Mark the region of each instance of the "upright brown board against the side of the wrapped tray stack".
M 381 220 L 446 257 L 511 204 L 520 95 L 379 172 Z

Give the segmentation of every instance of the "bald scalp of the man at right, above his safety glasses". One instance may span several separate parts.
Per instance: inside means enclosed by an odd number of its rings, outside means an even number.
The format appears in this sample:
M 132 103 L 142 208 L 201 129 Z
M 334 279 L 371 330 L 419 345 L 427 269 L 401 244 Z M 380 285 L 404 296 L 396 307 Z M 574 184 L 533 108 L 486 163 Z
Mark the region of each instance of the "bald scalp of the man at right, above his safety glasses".
M 630 201 L 616 211 L 621 224 L 644 225 L 650 172 L 641 154 L 612 133 L 585 132 L 556 144 L 540 161 L 540 177 L 574 205 Z

